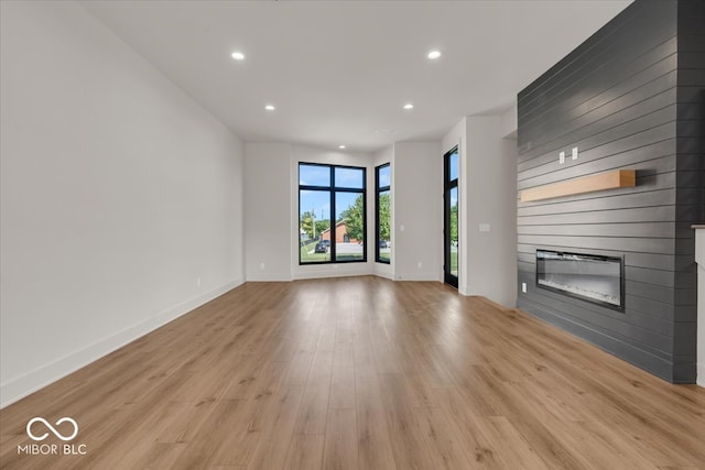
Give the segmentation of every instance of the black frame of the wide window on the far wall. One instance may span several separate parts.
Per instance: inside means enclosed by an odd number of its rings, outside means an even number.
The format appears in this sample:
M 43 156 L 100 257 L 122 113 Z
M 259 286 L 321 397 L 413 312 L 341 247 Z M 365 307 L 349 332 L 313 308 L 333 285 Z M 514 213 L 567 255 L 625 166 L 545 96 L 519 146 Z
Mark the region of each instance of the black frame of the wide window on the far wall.
M 330 185 L 329 186 L 317 186 L 317 185 L 302 185 L 301 184 L 301 166 L 321 166 L 328 168 L 330 173 Z M 350 188 L 350 187 L 339 187 L 336 186 L 335 182 L 335 171 L 336 168 L 348 168 L 348 170 L 357 170 L 362 172 L 362 188 Z M 351 166 L 351 165 L 334 165 L 328 163 L 314 163 L 314 162 L 299 162 L 297 166 L 297 182 L 299 182 L 299 222 L 297 227 L 297 245 L 299 245 L 299 265 L 307 266 L 314 264 L 340 264 L 340 263 L 367 263 L 367 167 L 365 166 Z M 329 204 L 330 204 L 330 260 L 328 261 L 310 261 L 302 262 L 301 259 L 301 192 L 302 190 L 319 190 L 319 192 L 328 192 Z M 336 194 L 338 193 L 350 193 L 350 194 L 359 194 L 362 196 L 362 258 L 359 260 L 336 260 L 337 258 L 337 247 L 335 240 L 336 237 Z

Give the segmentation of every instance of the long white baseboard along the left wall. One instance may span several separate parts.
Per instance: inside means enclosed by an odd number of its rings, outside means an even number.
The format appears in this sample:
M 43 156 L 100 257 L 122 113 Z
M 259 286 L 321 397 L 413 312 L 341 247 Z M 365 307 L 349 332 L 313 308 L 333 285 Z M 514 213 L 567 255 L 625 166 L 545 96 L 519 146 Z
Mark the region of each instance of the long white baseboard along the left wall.
M 181 317 L 203 304 L 213 300 L 219 295 L 242 284 L 242 280 L 236 280 L 216 287 L 203 295 L 167 308 L 153 317 L 122 331 L 98 340 L 83 349 L 74 351 L 46 365 L 30 371 L 17 379 L 0 384 L 0 408 L 36 392 L 40 389 L 65 378 L 72 372 L 88 365 L 89 363 L 120 349 L 135 339 L 155 330 L 156 328 Z

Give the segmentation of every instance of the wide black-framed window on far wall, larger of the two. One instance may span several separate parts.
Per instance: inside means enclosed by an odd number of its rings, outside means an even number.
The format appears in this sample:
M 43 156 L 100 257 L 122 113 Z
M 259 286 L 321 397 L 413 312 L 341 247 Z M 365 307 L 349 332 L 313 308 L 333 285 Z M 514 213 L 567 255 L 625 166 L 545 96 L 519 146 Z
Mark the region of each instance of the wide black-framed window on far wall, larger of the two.
M 365 182 L 365 168 L 299 164 L 299 264 L 367 261 Z

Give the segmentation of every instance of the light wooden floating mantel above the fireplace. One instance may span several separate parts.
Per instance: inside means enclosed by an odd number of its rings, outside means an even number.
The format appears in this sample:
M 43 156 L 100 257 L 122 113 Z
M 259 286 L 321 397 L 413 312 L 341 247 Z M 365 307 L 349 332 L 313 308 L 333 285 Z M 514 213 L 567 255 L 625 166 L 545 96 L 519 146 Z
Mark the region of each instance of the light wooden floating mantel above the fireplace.
M 552 197 L 634 186 L 637 186 L 637 172 L 634 170 L 615 170 L 614 172 L 524 189 L 521 192 L 521 201 L 530 203 Z

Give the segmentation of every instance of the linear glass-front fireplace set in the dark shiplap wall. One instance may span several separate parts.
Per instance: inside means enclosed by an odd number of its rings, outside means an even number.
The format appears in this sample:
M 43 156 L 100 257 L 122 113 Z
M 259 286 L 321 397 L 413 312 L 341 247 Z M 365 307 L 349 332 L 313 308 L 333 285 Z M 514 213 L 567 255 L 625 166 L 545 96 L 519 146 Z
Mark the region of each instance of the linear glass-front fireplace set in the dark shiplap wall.
M 536 285 L 625 310 L 623 258 L 536 250 Z

